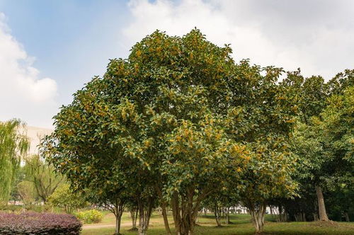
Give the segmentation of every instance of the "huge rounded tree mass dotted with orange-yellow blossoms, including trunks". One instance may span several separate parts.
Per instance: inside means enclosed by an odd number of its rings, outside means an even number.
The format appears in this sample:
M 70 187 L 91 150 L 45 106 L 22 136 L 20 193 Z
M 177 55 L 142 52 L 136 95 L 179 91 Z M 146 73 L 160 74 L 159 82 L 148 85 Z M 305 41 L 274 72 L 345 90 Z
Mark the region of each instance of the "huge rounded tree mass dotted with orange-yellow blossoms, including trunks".
M 135 203 L 139 234 L 157 202 L 168 234 L 168 205 L 176 234 L 193 234 L 202 200 L 226 191 L 241 197 L 262 231 L 267 203 L 297 195 L 295 125 L 311 125 L 329 91 L 352 75 L 346 71 L 329 86 L 295 71 L 280 82 L 282 69 L 236 63 L 231 53 L 199 30 L 148 35 L 61 108 L 55 132 L 42 143 L 46 159 L 72 188 L 115 205 L 118 223 L 118 211 Z M 338 141 L 350 144 L 347 136 Z

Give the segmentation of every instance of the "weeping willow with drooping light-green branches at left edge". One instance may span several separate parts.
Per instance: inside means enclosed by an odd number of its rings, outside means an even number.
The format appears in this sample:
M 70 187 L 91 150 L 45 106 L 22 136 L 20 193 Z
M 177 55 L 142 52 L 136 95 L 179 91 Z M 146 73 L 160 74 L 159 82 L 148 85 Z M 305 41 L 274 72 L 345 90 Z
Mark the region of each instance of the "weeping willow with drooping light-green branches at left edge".
M 20 120 L 0 122 L 0 202 L 8 201 L 21 158 L 28 151 L 24 127 Z

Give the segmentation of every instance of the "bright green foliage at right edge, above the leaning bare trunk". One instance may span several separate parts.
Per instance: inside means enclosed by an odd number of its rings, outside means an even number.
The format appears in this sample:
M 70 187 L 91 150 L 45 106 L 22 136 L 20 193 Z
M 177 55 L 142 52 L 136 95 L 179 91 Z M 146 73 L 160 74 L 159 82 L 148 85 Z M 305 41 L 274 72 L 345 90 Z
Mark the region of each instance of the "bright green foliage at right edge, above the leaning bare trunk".
M 300 178 L 329 188 L 353 180 L 353 97 L 353 87 L 331 96 L 319 117 L 298 124 L 294 151 L 302 158 Z

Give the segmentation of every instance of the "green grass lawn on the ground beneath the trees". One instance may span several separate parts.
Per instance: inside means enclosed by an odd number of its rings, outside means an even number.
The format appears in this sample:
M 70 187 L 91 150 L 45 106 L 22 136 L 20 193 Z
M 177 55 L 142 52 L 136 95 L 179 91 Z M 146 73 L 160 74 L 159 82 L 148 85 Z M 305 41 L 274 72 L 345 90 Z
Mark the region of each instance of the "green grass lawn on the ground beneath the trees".
M 216 227 L 214 217 L 210 215 L 200 216 L 198 219 L 198 227 L 195 227 L 195 234 L 254 234 L 253 225 L 250 221 L 249 214 L 236 214 L 231 216 L 232 224 L 224 224 L 222 227 Z M 348 234 L 354 235 L 354 222 L 289 222 L 278 223 L 275 218 L 270 215 L 265 217 L 265 231 L 263 234 L 328 234 L 328 235 L 341 235 Z M 172 222 L 172 218 L 169 218 Z M 83 235 L 112 235 L 114 234 L 115 219 L 113 214 L 105 214 L 103 221 L 99 224 L 84 225 Z M 137 234 L 135 231 L 128 231 L 132 227 L 128 213 L 123 214 L 122 217 L 122 234 Z M 173 230 L 173 224 L 171 224 Z M 153 214 L 147 234 L 158 235 L 165 234 L 164 222 L 160 214 Z

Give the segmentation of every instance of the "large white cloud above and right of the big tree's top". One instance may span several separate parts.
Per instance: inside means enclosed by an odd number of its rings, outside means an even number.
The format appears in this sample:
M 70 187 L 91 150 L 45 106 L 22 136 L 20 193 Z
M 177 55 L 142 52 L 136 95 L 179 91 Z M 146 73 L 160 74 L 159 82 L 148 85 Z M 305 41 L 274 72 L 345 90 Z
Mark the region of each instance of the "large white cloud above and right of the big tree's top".
M 184 35 L 199 28 L 217 45 L 231 43 L 236 59 L 330 79 L 354 67 L 353 1 L 133 0 L 127 45 L 154 30 Z

